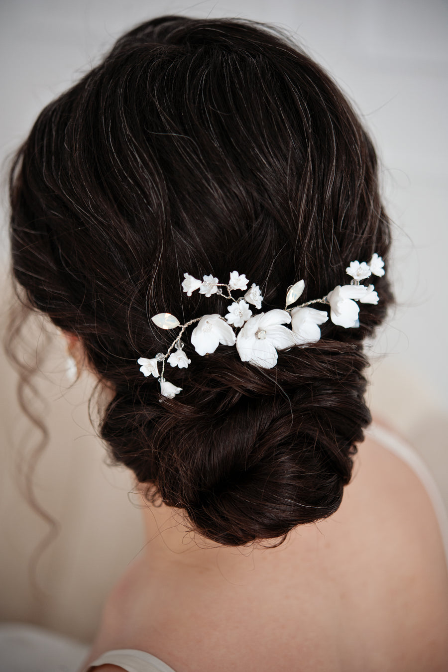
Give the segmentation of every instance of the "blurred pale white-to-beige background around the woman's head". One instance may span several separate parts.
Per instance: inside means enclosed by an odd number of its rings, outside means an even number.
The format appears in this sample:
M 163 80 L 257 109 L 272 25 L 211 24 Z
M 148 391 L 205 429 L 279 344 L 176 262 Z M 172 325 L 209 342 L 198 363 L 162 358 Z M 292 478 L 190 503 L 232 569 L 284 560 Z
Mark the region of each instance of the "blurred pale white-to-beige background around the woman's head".
M 161 13 L 240 15 L 283 24 L 335 74 L 377 140 L 396 222 L 387 272 L 395 280 L 398 308 L 369 348 L 371 407 L 416 446 L 448 503 L 446 3 L 240 0 L 190 7 L 143 0 L 15 0 L 3 2 L 0 11 L 3 158 L 42 106 L 101 50 L 126 28 Z M 7 259 L 4 237 L 2 258 Z M 0 285 L 3 325 L 7 300 L 5 282 Z M 24 357 L 29 361 L 34 354 L 24 351 Z M 129 474 L 105 464 L 91 429 L 91 381 L 84 376 L 68 389 L 60 339 L 42 366 L 39 386 L 51 439 L 34 483 L 59 530 L 40 556 L 36 590 L 29 577 L 32 556 L 48 526 L 17 487 L 33 434 L 17 406 L 15 374 L 1 355 L 0 619 L 90 640 L 107 590 L 142 548 L 138 501 L 128 495 Z

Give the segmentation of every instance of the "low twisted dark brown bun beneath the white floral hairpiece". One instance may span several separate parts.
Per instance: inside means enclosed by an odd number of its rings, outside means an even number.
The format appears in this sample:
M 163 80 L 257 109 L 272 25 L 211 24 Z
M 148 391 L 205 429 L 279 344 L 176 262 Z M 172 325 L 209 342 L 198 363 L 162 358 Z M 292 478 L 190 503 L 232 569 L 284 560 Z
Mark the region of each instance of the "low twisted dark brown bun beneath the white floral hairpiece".
M 273 374 L 210 355 L 182 401 L 136 413 L 134 395 L 118 396 L 105 416 L 103 438 L 151 484 L 148 499 L 185 509 L 220 544 L 279 538 L 334 513 L 371 419 L 359 349 L 325 341 L 279 359 Z

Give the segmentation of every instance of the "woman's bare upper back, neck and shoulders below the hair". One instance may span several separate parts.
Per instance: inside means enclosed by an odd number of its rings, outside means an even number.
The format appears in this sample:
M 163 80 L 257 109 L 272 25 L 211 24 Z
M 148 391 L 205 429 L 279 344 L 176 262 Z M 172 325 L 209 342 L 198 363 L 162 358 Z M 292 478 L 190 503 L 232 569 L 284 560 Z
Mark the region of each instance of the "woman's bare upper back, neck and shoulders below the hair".
M 448 669 L 437 519 L 418 477 L 373 439 L 337 513 L 277 549 L 210 548 L 171 514 L 145 509 L 148 544 L 112 591 L 88 662 L 136 648 L 176 672 Z

